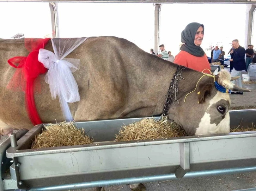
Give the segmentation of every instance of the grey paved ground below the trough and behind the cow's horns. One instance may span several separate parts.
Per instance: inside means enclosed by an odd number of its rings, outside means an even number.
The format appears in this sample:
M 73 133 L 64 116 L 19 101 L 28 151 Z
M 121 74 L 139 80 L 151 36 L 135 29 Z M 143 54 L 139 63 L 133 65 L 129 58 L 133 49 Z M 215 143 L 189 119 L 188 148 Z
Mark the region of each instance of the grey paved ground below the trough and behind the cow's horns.
M 252 78 L 252 80 L 255 81 L 255 78 Z M 244 92 L 243 95 L 230 95 L 231 107 L 251 106 L 256 108 L 256 84 L 243 84 L 243 86 L 251 89 L 251 92 Z M 1 141 L 3 140 L 4 138 L 1 138 Z M 256 172 L 179 179 L 159 183 L 146 183 L 145 185 L 147 191 L 231 191 L 254 187 L 256 190 Z M 92 189 L 79 191 L 92 191 Z M 122 185 L 107 187 L 106 191 L 130 191 L 130 189 L 129 186 Z

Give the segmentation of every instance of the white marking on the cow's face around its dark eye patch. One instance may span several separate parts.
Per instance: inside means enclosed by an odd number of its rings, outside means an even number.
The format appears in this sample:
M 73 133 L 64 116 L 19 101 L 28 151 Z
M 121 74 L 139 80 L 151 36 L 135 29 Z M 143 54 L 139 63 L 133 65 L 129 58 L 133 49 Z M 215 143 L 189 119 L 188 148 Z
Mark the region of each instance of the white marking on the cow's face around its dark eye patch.
M 219 100 L 225 99 L 230 103 L 230 97 L 227 93 L 222 93 L 220 91 L 209 101 L 209 107 L 213 104 L 217 103 Z M 207 110 L 209 109 L 207 108 Z M 230 117 L 229 112 L 226 113 L 226 116 L 220 123 L 217 125 L 215 123 L 211 124 L 210 114 L 207 113 L 207 110 L 201 121 L 199 123 L 199 127 L 196 129 L 195 135 L 203 135 L 203 134 L 217 134 L 217 133 L 229 133 L 230 132 Z

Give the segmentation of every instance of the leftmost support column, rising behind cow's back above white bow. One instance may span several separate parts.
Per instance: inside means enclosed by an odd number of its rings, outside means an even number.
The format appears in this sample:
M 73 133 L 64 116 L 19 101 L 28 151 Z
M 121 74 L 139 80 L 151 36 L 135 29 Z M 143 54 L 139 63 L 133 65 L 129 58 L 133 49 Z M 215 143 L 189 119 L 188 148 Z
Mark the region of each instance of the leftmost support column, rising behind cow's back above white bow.
M 58 5 L 57 3 L 49 3 L 51 11 L 51 28 L 53 31 L 53 38 L 60 37 L 59 31 L 59 14 L 58 14 Z

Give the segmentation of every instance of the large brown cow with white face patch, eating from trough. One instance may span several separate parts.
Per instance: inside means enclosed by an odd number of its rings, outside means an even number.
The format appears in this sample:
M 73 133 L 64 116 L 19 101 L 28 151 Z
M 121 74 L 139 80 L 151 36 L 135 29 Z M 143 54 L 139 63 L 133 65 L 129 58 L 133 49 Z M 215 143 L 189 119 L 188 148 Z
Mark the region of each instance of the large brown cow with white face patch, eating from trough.
M 51 41 L 45 49 L 53 52 Z M 6 88 L 16 70 L 7 64 L 7 60 L 28 54 L 24 39 L 0 39 L 1 134 L 33 127 L 26 113 L 24 92 Z M 80 101 L 69 103 L 75 121 L 163 113 L 167 91 L 178 67 L 141 50 L 126 39 L 105 36 L 88 38 L 66 58 L 80 59 L 80 69 L 73 73 Z M 39 76 L 41 93 L 34 94 L 37 112 L 43 123 L 61 122 L 63 116 L 59 100 L 51 99 L 44 75 Z M 188 135 L 228 133 L 229 94 L 215 88 L 212 76 L 203 75 L 189 68 L 182 71 L 177 94 L 173 94 L 176 104 L 170 103 L 166 115 L 183 127 Z M 220 71 L 215 77 L 219 85 L 229 90 L 250 91 L 231 83 L 233 79 L 226 71 Z M 194 89 L 196 91 L 192 92 Z

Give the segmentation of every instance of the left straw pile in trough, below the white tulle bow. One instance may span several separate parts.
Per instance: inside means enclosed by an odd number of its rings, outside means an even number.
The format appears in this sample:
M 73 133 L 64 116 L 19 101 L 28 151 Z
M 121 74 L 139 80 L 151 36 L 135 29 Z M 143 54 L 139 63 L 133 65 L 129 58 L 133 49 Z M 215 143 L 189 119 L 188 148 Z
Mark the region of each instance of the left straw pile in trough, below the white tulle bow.
M 74 121 L 66 123 L 65 121 L 57 124 L 44 126 L 45 130 L 35 137 L 32 144 L 32 149 L 58 147 L 58 146 L 73 146 L 92 144 L 93 139 L 90 139 L 84 134 L 84 129 L 77 129 L 74 126 Z

